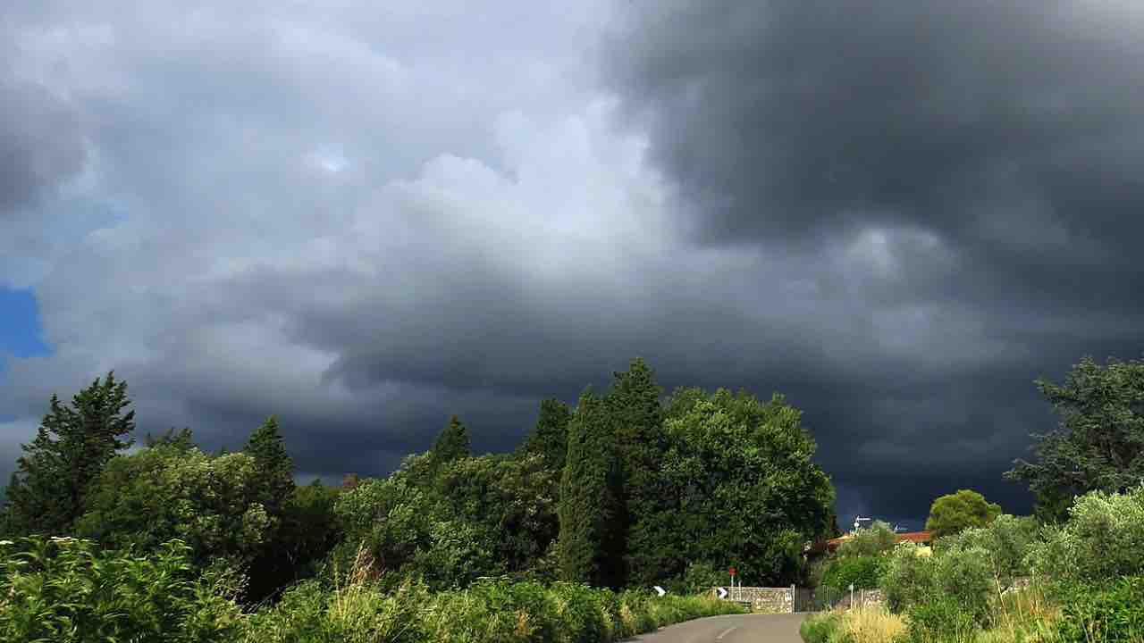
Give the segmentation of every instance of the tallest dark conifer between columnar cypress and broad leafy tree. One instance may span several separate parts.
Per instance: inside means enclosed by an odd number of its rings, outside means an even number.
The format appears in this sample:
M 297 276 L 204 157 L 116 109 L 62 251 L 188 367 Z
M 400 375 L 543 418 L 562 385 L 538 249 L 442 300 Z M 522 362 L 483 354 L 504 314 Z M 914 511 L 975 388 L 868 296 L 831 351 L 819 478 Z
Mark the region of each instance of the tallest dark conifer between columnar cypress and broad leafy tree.
M 669 507 L 660 484 L 659 463 L 666 450 L 662 430 L 662 390 L 642 358 L 626 372 L 613 373 L 607 413 L 615 430 L 621 465 L 625 535 L 625 584 L 658 580 L 672 551 L 664 539 Z

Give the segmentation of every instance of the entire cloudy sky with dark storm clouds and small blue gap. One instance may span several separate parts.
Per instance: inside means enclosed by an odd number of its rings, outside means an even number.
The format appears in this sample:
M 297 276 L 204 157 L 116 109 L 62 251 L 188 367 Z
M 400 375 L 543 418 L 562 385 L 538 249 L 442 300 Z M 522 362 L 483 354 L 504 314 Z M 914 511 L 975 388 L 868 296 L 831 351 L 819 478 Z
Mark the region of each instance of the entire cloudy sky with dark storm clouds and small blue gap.
M 1144 351 L 1138 3 L 196 5 L 0 9 L 0 475 L 111 368 L 339 479 L 642 356 L 919 526 Z

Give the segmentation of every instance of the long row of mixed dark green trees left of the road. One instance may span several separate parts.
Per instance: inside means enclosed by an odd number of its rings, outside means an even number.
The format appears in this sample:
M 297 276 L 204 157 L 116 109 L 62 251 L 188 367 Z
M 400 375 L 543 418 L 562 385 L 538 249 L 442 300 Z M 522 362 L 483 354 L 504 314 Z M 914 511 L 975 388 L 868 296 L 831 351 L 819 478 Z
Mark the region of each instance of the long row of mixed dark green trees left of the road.
M 275 418 L 240 451 L 207 453 L 189 429 L 134 446 L 113 373 L 57 397 L 24 446 L 0 533 L 90 539 L 148 554 L 185 543 L 194 569 L 245 577 L 246 604 L 337 570 L 430 590 L 482 578 L 662 585 L 800 580 L 802 546 L 831 532 L 834 491 L 801 413 L 774 395 L 676 389 L 641 359 L 575 407 L 540 404 L 511 453 L 474 455 L 459 418 L 384 478 L 295 485 Z M 365 570 L 363 572 L 363 570 Z

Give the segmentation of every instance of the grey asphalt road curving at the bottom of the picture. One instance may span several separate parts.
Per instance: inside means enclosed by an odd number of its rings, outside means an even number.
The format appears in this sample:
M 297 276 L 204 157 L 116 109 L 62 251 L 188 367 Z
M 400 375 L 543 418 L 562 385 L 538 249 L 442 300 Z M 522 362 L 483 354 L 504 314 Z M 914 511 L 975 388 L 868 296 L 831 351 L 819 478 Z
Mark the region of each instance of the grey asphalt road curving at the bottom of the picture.
M 801 643 L 799 624 L 807 614 L 732 614 L 665 627 L 636 636 L 641 643 Z

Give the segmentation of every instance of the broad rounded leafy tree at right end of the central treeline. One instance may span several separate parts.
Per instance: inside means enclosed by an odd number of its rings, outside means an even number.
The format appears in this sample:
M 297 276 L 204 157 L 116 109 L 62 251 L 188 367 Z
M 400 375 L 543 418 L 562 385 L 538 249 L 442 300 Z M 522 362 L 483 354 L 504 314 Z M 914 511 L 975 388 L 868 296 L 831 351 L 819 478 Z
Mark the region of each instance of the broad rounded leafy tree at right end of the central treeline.
M 733 563 L 745 584 L 789 584 L 803 545 L 828 532 L 834 505 L 801 412 L 778 394 L 762 403 L 724 389 L 678 389 L 667 407 L 661 476 L 675 526 L 660 573 L 707 561 Z

